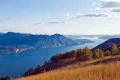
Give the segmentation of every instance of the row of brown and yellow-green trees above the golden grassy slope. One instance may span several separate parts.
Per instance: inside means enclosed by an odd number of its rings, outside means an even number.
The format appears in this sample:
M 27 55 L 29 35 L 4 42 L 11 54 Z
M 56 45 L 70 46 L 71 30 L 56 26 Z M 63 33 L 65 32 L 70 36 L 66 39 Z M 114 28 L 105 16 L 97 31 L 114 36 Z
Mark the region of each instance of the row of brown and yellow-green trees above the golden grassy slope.
M 64 59 L 73 59 L 78 61 L 84 61 L 84 60 L 91 60 L 91 59 L 98 59 L 103 58 L 105 56 L 114 56 L 120 54 L 120 48 L 114 44 L 110 49 L 96 49 L 92 51 L 90 48 L 83 48 L 83 49 L 77 49 L 72 50 L 70 52 L 66 52 L 64 54 L 56 54 L 51 57 L 51 62 L 60 62 Z

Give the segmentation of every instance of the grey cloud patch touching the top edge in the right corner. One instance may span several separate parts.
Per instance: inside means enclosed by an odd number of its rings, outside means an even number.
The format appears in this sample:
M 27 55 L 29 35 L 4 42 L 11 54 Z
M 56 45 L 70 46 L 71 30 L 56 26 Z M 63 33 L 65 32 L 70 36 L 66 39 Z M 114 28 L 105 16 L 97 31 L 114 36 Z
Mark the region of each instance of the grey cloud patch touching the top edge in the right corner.
M 101 0 L 101 8 L 120 7 L 120 0 Z

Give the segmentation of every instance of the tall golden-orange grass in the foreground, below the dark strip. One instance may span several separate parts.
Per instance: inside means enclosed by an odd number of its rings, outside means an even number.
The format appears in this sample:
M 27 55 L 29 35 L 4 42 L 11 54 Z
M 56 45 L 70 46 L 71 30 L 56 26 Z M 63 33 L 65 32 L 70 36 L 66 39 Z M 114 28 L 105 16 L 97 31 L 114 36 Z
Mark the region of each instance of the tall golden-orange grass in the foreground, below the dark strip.
M 18 80 L 120 80 L 120 62 L 56 70 Z

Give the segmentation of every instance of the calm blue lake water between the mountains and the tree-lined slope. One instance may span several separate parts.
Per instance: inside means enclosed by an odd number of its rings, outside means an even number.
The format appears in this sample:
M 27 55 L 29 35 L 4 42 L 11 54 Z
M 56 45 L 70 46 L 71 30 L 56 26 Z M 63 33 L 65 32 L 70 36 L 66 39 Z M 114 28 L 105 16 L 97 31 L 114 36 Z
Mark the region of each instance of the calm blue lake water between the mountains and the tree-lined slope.
M 94 40 L 95 42 L 59 48 L 35 49 L 24 51 L 20 54 L 0 54 L 0 77 L 20 77 L 26 70 L 43 64 L 56 53 L 62 53 L 83 47 L 93 48 L 104 42 L 104 40 L 97 38 L 91 40 Z

